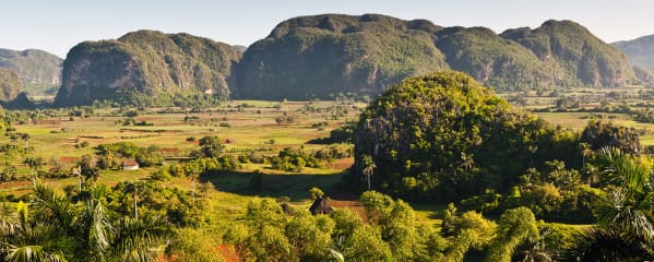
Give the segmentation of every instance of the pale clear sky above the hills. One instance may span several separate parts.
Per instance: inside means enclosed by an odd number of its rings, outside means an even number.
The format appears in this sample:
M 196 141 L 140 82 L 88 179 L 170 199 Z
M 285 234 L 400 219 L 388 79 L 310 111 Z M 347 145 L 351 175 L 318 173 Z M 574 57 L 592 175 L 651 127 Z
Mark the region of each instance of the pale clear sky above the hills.
M 652 11 L 652 0 L 5 0 L 0 48 L 36 48 L 64 58 L 81 41 L 115 39 L 138 29 L 248 46 L 284 20 L 323 13 L 380 13 L 497 33 L 572 20 L 613 43 L 654 34 Z

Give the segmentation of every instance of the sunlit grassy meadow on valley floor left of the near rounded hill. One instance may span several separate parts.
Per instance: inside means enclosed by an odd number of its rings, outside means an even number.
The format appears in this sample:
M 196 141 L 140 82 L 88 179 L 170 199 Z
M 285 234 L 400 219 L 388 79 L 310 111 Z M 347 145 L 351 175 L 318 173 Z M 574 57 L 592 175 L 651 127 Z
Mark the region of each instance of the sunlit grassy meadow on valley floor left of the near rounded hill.
M 277 155 L 285 147 L 311 152 L 325 147 L 309 144 L 310 140 L 329 136 L 332 129 L 344 121 L 355 119 L 365 104 L 337 102 L 262 102 L 235 100 L 218 108 L 203 112 L 157 114 L 162 109 L 146 109 L 133 117 L 136 122 L 145 121 L 151 126 L 123 126 L 127 119 L 114 116 L 111 110 L 96 110 L 88 117 L 45 118 L 37 122 L 14 124 L 16 132 L 28 133 L 26 142 L 34 148 L 33 157 L 43 157 L 46 163 L 56 159 L 67 168 L 74 167 L 83 155 L 94 154 L 97 145 L 116 142 L 132 142 L 138 146 L 156 145 L 175 162 L 176 156 L 188 156 L 198 150 L 198 140 L 204 135 L 215 135 L 223 140 L 224 152 L 238 154 L 254 150 L 263 155 Z M 292 121 L 277 122 L 278 117 L 293 118 Z M 185 121 L 186 118 L 186 121 Z M 316 127 L 316 123 L 323 123 Z M 195 138 L 189 141 L 189 138 Z M 228 142 L 227 142 L 228 141 Z M 0 143 L 12 143 L 8 136 L 0 136 Z M 199 193 L 207 196 L 212 214 L 217 221 L 236 219 L 242 215 L 247 203 L 258 198 L 289 196 L 294 204 L 308 207 L 309 189 L 320 187 L 325 192 L 341 180 L 341 174 L 354 159 L 344 158 L 324 163 L 321 168 L 304 168 L 300 172 L 287 172 L 271 169 L 265 164 L 242 164 L 241 168 L 217 178 L 200 181 L 195 184 Z M 46 165 L 47 168 L 47 165 Z M 114 186 L 120 181 L 142 181 L 156 171 L 156 167 L 139 170 L 103 170 L 99 183 Z M 263 187 L 251 190 L 249 182 L 254 172 L 263 174 Z M 19 176 L 27 176 L 29 169 L 19 165 Z M 76 186 L 79 178 L 46 179 L 46 183 L 57 189 Z M 191 190 L 193 182 L 188 178 L 173 178 L 160 181 L 163 187 L 176 187 Z M 22 195 L 29 192 L 32 182 L 24 178 L 19 181 L 0 183 L 0 192 Z M 357 195 L 345 195 L 349 198 Z

